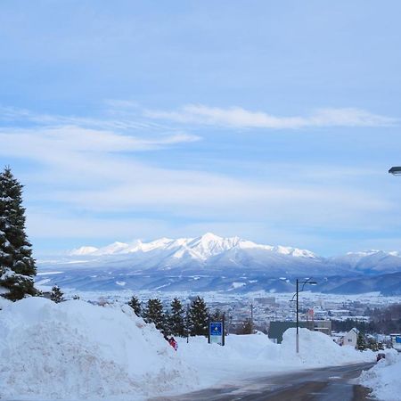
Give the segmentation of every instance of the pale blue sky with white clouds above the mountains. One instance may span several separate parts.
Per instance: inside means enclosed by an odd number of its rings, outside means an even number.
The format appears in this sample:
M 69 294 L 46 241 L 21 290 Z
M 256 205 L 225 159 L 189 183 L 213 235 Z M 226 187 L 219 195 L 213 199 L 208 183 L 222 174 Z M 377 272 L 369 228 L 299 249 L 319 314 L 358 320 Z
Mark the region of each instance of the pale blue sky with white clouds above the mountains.
M 37 254 L 205 232 L 401 250 L 397 1 L 0 4 Z

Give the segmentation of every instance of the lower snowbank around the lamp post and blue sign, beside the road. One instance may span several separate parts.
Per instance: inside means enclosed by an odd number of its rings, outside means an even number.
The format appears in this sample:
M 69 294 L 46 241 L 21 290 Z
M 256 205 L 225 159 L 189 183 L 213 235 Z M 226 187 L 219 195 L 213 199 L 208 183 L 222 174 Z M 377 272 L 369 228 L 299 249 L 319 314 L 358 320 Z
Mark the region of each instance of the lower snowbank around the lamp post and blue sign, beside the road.
M 264 334 L 230 335 L 225 347 L 208 344 L 205 338 L 179 340 L 178 351 L 188 364 L 197 366 L 201 384 L 209 385 L 244 374 L 288 372 L 340 364 L 372 362 L 372 351 L 340 347 L 331 337 L 316 331 L 299 329 L 299 354 L 295 346 L 296 329 L 283 335 L 282 344 L 274 344 Z

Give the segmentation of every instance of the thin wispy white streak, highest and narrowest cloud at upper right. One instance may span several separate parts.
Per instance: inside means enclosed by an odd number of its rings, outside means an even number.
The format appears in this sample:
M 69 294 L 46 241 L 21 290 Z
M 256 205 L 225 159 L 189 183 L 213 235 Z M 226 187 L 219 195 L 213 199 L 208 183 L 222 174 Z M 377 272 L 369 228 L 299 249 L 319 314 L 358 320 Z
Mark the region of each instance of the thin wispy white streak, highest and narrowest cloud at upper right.
M 306 127 L 388 127 L 398 120 L 360 109 L 319 109 L 308 116 L 278 117 L 241 107 L 228 109 L 189 104 L 179 110 L 145 110 L 150 119 L 221 127 L 296 129 Z

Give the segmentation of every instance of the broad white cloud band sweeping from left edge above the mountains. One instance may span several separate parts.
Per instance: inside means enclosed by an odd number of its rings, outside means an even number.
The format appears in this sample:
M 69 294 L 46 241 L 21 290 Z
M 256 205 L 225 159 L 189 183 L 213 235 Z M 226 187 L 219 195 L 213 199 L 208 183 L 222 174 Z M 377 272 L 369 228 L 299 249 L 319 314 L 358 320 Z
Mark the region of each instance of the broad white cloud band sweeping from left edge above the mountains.
M 33 160 L 43 167 L 40 175 L 29 176 L 29 183 L 53 187 L 45 192 L 32 190 L 32 201 L 57 202 L 76 210 L 152 210 L 167 218 L 259 216 L 299 222 L 306 216 L 310 222 L 328 223 L 333 217 L 355 221 L 366 210 L 389 206 L 380 197 L 350 187 L 249 181 L 235 175 L 155 167 L 126 154 L 193 139 L 172 135 L 143 140 L 82 127 L 13 128 L 0 130 L 0 155 Z

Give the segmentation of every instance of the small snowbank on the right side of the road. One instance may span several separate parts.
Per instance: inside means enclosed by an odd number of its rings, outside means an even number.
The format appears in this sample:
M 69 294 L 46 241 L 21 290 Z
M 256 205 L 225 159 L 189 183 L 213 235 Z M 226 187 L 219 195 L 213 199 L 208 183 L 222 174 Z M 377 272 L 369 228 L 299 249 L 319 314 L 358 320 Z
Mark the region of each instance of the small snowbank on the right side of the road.
M 386 358 L 362 372 L 359 383 L 372 389 L 372 395 L 383 401 L 401 400 L 401 356 L 394 349 L 385 351 Z

